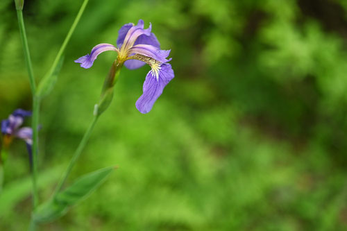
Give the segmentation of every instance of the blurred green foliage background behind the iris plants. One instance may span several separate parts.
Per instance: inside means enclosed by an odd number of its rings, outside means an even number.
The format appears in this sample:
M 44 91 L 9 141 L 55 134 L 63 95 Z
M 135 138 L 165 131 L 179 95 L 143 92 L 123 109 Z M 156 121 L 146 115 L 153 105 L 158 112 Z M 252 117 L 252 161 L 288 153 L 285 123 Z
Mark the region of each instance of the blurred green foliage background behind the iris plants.
M 37 80 L 81 3 L 25 1 Z M 31 109 L 31 92 L 14 3 L 1 0 L 0 12 L 5 119 Z M 135 101 L 149 67 L 122 69 L 70 181 L 104 166 L 119 169 L 41 230 L 346 230 L 345 0 L 90 0 L 42 102 L 41 199 L 92 120 L 116 56 L 103 53 L 91 69 L 73 61 L 96 44 L 115 44 L 119 28 L 138 19 L 151 22 L 162 49 L 171 49 L 176 77 L 153 110 L 140 114 Z M 28 171 L 25 144 L 17 141 L 6 164 L 10 199 L 0 230 L 27 228 Z

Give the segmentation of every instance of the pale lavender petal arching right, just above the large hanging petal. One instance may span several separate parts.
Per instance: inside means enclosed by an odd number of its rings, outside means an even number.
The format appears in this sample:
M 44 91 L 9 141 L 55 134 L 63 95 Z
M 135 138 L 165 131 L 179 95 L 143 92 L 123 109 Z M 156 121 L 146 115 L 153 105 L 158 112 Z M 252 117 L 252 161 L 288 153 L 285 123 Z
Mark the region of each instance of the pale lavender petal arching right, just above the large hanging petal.
M 152 45 L 146 45 L 146 44 L 139 44 L 136 46 L 133 46 L 130 49 L 130 53 L 138 53 L 140 55 L 145 55 L 151 58 L 154 58 L 155 60 L 158 60 L 159 62 L 169 62 L 167 60 L 167 56 L 170 54 L 170 50 L 160 50 L 155 46 Z

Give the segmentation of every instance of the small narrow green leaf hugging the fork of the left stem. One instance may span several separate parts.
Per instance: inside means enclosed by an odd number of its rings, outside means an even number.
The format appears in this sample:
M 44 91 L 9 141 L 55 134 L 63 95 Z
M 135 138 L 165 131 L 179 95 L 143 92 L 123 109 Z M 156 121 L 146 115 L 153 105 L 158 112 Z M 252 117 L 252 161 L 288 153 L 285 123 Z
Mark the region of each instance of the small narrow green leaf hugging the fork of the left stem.
M 63 61 L 64 56 L 61 56 L 58 65 L 56 65 L 56 67 L 52 67 L 52 69 L 49 70 L 49 72 L 44 76 L 44 78 L 42 78 L 39 86 L 37 87 L 37 96 L 42 98 L 49 94 L 49 92 L 51 92 L 53 86 L 56 84 L 56 81 L 58 79 L 58 74 L 60 72 L 60 69 L 62 68 Z

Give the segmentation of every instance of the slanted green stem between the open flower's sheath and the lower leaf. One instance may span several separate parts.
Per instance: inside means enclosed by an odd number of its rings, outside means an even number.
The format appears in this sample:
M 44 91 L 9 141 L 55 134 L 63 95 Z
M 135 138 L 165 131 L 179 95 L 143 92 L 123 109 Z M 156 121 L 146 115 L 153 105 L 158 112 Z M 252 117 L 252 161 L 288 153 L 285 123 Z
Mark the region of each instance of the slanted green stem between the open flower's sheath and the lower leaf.
M 78 157 L 81 155 L 83 148 L 85 147 L 85 144 L 87 144 L 87 141 L 90 138 L 90 135 L 91 135 L 92 130 L 96 124 L 96 121 L 98 121 L 98 118 L 99 118 L 98 116 L 95 116 L 92 123 L 90 123 L 89 128 L 85 131 L 85 135 L 83 135 L 83 138 L 82 138 L 80 144 L 78 145 L 78 148 L 76 149 L 76 151 L 74 153 L 74 156 L 71 158 L 71 160 L 69 162 L 69 166 L 67 166 L 67 169 L 63 173 L 62 178 L 60 178 L 60 181 L 56 187 L 56 191 L 54 191 L 53 198 L 56 196 L 56 194 L 58 194 L 58 192 L 64 186 L 64 183 L 67 180 L 67 177 L 69 176 L 69 173 L 71 172 L 71 169 L 76 164 L 76 161 L 77 161 Z

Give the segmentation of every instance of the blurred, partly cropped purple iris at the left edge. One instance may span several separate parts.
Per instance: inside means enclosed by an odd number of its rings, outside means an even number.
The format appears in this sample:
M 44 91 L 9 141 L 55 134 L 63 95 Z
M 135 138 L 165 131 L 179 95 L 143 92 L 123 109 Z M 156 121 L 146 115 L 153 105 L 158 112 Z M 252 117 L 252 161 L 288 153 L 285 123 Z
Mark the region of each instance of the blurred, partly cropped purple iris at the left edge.
M 33 145 L 33 130 L 29 127 L 22 126 L 25 117 L 30 117 L 31 112 L 17 109 L 10 114 L 8 119 L 1 121 L 1 133 L 3 135 L 3 143 L 8 146 L 14 137 L 23 139 L 26 142 L 29 155 L 31 155 L 31 146 Z

